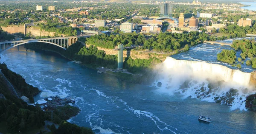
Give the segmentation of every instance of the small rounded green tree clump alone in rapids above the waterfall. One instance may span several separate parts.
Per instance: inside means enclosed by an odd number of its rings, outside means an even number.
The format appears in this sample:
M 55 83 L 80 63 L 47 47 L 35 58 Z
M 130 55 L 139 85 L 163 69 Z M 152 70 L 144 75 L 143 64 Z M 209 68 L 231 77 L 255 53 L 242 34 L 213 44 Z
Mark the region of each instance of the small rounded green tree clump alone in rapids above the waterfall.
M 217 54 L 217 59 L 233 64 L 236 61 L 236 52 L 234 50 L 222 50 L 221 53 Z

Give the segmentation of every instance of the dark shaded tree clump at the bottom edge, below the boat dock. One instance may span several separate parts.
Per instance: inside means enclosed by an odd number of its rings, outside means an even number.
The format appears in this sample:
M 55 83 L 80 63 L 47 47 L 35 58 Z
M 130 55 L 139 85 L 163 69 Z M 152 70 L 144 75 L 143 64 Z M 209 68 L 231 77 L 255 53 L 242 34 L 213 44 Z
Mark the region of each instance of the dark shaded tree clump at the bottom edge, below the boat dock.
M 62 121 L 55 134 L 94 134 L 90 128 L 79 127 L 67 121 Z

